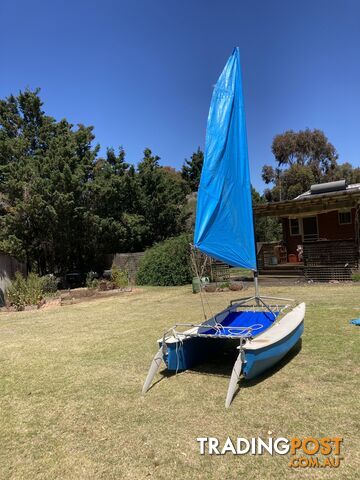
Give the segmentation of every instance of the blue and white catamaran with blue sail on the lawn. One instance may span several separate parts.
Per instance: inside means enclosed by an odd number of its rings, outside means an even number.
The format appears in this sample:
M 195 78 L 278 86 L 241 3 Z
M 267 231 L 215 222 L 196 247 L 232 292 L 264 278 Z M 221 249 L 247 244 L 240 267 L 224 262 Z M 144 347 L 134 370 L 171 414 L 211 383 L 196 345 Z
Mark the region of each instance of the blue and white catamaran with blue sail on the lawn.
M 231 301 L 199 324 L 177 323 L 158 340 L 143 393 L 160 368 L 183 371 L 235 349 L 225 399 L 228 408 L 240 376 L 252 379 L 279 362 L 304 331 L 305 304 L 259 294 L 240 53 L 236 47 L 213 91 L 207 122 L 194 248 L 254 272 L 253 296 Z

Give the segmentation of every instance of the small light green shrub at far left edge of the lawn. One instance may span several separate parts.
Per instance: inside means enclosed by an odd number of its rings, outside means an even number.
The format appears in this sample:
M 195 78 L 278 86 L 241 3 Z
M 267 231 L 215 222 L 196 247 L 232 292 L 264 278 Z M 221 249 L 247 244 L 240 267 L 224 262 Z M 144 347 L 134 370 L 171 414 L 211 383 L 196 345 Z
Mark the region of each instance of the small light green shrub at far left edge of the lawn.
M 23 310 L 26 305 L 38 305 L 43 297 L 43 282 L 36 273 L 29 273 L 25 279 L 20 272 L 16 272 L 15 279 L 7 290 L 10 305 Z

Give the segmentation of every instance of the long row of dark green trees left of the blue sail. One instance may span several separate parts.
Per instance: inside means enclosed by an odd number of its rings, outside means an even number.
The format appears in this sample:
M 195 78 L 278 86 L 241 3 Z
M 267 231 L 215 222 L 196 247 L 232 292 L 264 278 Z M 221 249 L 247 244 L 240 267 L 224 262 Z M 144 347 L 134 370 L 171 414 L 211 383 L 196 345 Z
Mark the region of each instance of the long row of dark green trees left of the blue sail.
M 0 101 L 0 248 L 39 273 L 96 268 L 184 228 L 187 186 L 150 149 L 98 157 L 93 128 L 45 114 L 39 90 Z

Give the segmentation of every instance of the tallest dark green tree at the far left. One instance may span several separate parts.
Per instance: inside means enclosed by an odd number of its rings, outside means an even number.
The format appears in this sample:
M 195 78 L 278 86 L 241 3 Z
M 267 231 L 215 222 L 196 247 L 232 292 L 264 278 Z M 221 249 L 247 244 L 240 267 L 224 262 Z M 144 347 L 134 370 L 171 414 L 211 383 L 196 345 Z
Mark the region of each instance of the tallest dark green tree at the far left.
M 98 147 L 92 127 L 45 115 L 39 90 L 0 101 L 1 247 L 41 273 L 86 263 L 83 186 Z

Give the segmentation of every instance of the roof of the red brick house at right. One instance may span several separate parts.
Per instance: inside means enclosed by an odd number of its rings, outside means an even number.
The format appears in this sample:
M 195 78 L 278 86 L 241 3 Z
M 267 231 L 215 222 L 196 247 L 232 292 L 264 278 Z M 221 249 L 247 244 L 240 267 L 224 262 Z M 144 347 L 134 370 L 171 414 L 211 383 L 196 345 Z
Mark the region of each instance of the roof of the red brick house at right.
M 360 183 L 347 185 L 343 190 L 302 193 L 293 200 L 262 203 L 254 206 L 254 215 L 265 217 L 287 217 L 304 213 L 324 213 L 339 208 L 360 206 Z

